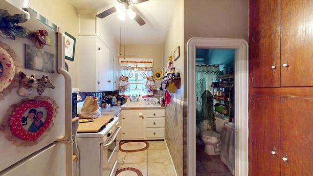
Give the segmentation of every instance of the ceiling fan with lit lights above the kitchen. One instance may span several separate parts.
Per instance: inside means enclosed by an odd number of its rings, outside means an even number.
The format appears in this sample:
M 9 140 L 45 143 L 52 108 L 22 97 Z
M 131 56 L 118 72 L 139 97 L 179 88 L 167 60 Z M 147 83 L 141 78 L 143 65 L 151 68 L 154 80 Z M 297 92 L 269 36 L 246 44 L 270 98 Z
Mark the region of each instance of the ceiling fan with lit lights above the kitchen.
M 114 7 L 105 10 L 98 15 L 98 18 L 104 18 L 112 13 L 118 11 L 119 15 L 118 18 L 125 21 L 125 14 L 127 13 L 130 19 L 134 19 L 139 25 L 144 25 L 146 22 L 136 13 L 133 9 L 129 8 L 129 5 L 145 2 L 148 0 L 117 0 L 117 4 Z

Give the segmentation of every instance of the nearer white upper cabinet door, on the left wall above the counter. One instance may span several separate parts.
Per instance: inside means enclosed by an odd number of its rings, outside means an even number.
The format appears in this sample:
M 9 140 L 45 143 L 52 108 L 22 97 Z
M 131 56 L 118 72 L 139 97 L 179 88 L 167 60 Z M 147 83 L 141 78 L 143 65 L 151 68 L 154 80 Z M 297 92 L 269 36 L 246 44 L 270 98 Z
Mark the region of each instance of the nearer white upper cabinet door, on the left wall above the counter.
M 113 89 L 113 61 L 109 48 L 98 40 L 98 91 Z

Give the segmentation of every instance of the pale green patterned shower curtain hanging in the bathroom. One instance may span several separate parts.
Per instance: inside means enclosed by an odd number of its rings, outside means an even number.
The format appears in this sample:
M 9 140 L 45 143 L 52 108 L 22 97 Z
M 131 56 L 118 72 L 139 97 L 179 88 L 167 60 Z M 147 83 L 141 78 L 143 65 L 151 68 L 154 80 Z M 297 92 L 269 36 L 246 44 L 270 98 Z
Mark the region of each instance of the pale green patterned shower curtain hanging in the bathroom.
M 209 90 L 213 94 L 212 82 L 216 82 L 220 70 L 219 66 L 196 66 L 196 122 L 197 136 L 201 131 L 214 128 L 214 118 L 203 116 L 201 95 Z M 213 106 L 213 104 L 212 104 Z M 213 113 L 213 112 L 212 112 Z

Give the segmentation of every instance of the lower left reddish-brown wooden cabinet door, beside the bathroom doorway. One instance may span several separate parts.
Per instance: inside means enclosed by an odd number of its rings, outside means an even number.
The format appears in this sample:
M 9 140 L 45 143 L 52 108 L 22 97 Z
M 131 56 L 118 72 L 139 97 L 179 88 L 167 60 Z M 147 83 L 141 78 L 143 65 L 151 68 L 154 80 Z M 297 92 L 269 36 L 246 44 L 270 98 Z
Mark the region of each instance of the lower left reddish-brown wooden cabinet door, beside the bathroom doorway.
M 249 176 L 280 176 L 280 100 L 277 96 L 252 95 L 249 115 Z M 275 157 L 274 157 L 275 156 Z

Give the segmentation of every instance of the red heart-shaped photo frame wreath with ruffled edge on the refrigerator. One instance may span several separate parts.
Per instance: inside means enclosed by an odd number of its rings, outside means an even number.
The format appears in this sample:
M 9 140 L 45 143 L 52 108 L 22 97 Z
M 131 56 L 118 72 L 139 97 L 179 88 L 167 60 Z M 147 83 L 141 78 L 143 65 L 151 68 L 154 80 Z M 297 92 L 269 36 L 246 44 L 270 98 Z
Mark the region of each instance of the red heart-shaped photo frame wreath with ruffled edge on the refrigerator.
M 59 106 L 54 99 L 47 96 L 36 96 L 34 99 L 24 98 L 19 104 L 13 104 L 7 110 L 2 120 L 2 132 L 7 140 L 16 146 L 33 146 L 43 140 L 53 127 L 53 119 L 58 114 Z M 36 113 L 37 112 L 37 113 Z M 30 118 L 30 113 L 34 113 Z M 41 126 L 35 130 L 33 122 L 36 116 L 42 114 Z M 36 114 L 36 116 L 35 116 Z M 26 122 L 26 123 L 25 123 Z M 28 124 L 28 126 L 26 126 Z

